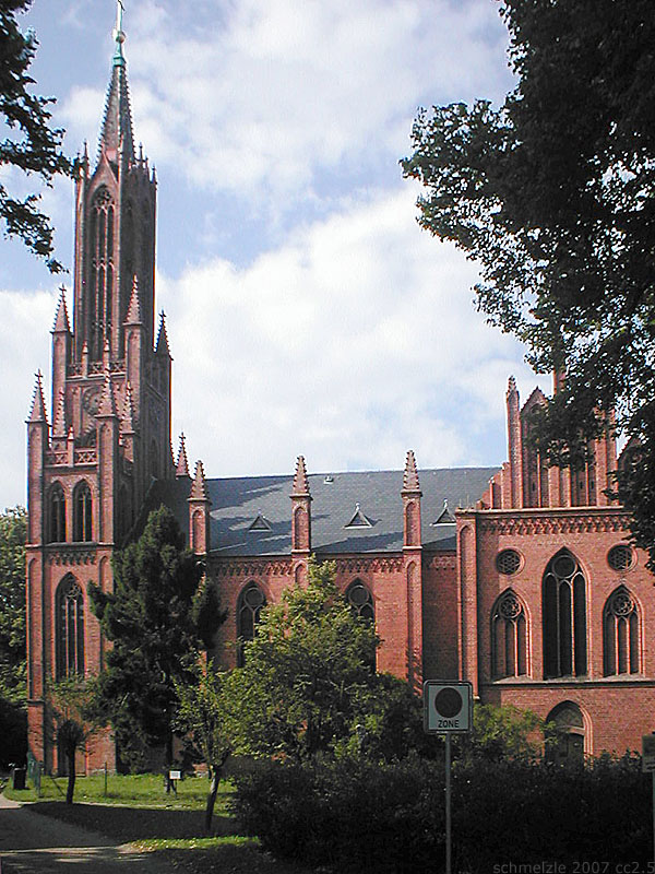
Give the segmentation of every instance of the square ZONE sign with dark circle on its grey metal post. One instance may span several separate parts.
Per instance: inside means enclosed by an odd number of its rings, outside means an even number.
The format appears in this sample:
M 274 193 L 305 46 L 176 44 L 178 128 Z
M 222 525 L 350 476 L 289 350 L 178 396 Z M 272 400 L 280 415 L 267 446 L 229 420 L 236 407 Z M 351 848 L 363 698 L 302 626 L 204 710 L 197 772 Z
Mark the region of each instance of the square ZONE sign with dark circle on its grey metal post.
M 445 874 L 452 866 L 451 825 L 451 734 L 471 731 L 473 724 L 473 686 L 467 681 L 424 683 L 424 728 L 428 734 L 445 735 Z

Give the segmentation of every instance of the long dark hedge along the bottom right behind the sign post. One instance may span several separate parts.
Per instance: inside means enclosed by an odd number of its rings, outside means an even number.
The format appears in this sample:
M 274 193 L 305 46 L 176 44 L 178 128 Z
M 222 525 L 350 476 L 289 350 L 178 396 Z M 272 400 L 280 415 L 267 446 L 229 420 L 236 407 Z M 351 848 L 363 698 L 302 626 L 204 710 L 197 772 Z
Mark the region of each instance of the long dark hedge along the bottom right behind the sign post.
M 358 872 L 439 871 L 444 859 L 443 761 L 261 763 L 236 784 L 241 825 L 276 855 Z M 651 780 L 636 757 L 467 758 L 452 790 L 453 870 L 651 859 Z

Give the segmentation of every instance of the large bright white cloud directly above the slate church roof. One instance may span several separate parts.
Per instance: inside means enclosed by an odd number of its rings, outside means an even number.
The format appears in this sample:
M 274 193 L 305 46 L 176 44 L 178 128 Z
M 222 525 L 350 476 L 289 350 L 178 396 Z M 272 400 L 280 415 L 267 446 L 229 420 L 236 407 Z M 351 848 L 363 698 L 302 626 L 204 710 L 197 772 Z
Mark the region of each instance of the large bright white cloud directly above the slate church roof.
M 488 328 L 475 270 L 422 234 L 406 188 L 295 232 L 237 270 L 159 276 L 176 432 L 209 475 L 501 462 L 521 350 Z M 492 439 L 485 442 L 485 435 Z

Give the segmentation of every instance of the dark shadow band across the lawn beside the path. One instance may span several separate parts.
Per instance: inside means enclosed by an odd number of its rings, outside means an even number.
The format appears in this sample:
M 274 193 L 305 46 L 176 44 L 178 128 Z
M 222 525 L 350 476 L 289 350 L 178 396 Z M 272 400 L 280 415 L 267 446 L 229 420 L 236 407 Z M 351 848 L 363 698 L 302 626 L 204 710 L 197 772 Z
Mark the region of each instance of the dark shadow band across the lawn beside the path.
M 104 804 L 64 804 L 39 801 L 29 805 L 34 813 L 90 828 L 118 843 L 164 838 L 204 838 L 204 811 L 166 811 L 146 807 L 118 807 Z M 213 834 L 236 835 L 237 824 L 229 816 L 214 816 Z

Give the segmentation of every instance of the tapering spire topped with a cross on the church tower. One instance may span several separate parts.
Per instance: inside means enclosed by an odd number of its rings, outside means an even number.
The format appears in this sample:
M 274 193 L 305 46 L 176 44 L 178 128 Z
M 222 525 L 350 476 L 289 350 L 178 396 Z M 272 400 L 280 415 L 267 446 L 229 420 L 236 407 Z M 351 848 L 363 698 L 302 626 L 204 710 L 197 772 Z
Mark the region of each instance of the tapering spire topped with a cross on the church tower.
M 128 161 L 134 161 L 132 110 L 130 108 L 127 66 L 122 51 L 122 46 L 126 42 L 126 34 L 122 29 L 122 0 L 117 0 L 116 28 L 114 31 L 116 49 L 99 142 L 100 155 L 106 155 L 107 160 L 112 164 L 118 164 L 121 152 L 127 156 Z

